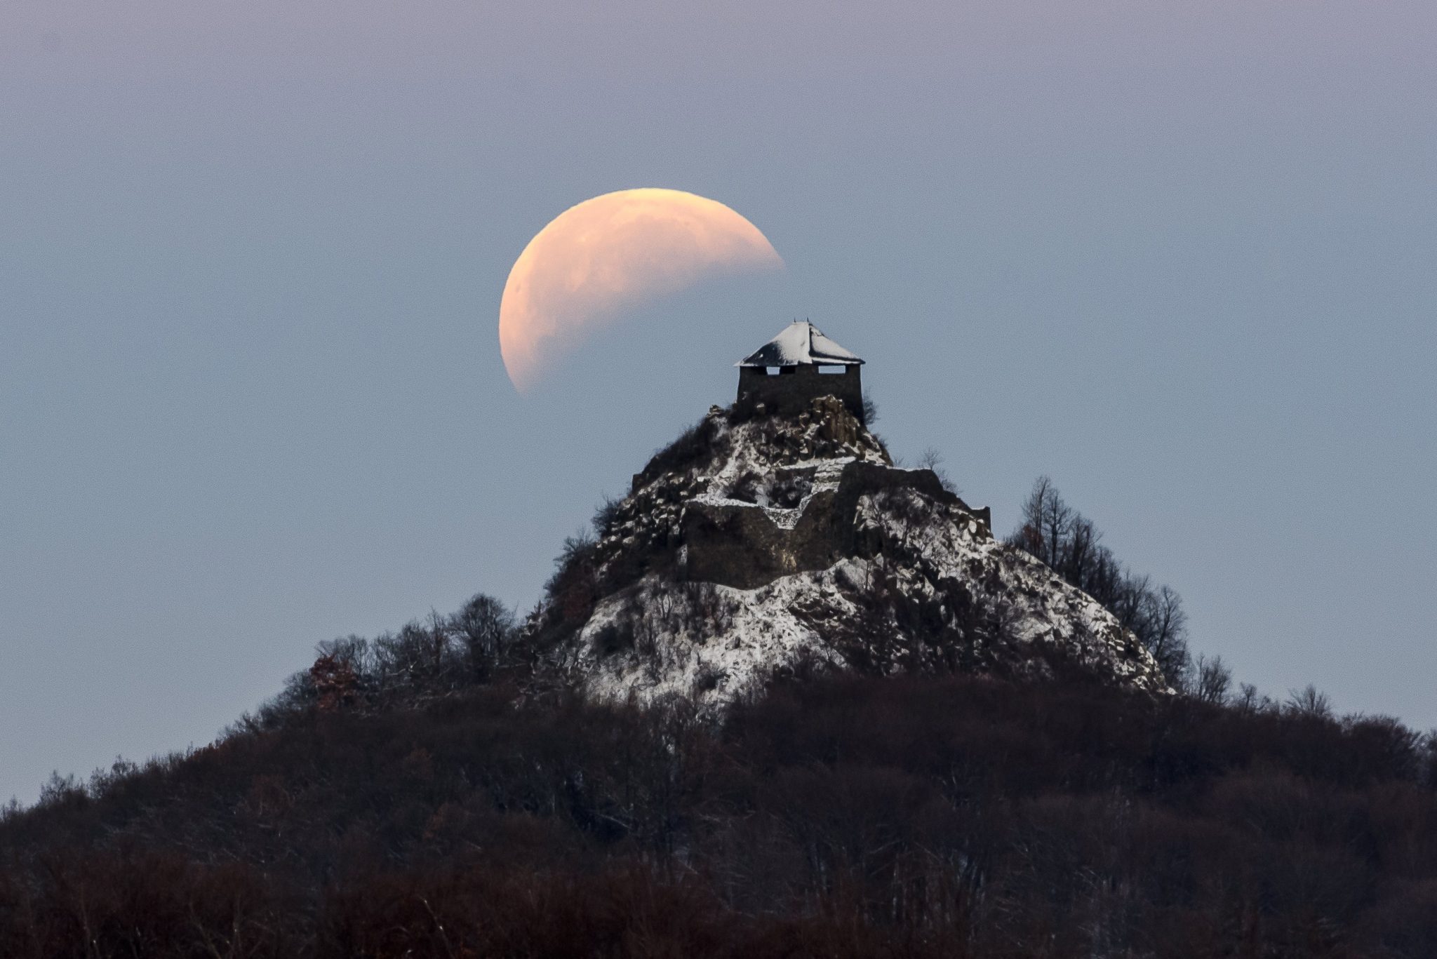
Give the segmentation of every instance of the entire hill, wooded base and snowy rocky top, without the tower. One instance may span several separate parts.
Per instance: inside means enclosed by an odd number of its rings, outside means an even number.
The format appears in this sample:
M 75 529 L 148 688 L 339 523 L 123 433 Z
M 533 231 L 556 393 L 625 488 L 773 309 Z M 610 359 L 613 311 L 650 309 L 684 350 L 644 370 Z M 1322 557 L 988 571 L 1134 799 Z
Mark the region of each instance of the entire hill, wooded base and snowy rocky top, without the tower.
M 1233 694 L 1046 480 L 714 408 L 595 526 L 0 809 L 0 956 L 1437 955 L 1437 738 Z

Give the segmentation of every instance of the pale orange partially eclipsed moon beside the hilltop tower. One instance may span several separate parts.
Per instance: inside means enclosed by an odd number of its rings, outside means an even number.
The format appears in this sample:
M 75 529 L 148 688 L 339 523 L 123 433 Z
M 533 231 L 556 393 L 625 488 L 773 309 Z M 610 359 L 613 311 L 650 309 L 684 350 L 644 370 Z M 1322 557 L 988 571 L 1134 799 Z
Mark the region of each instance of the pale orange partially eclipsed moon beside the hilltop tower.
M 769 239 L 717 200 L 619 190 L 556 216 L 514 260 L 499 302 L 499 349 L 519 393 L 589 328 L 694 283 L 783 269 Z

